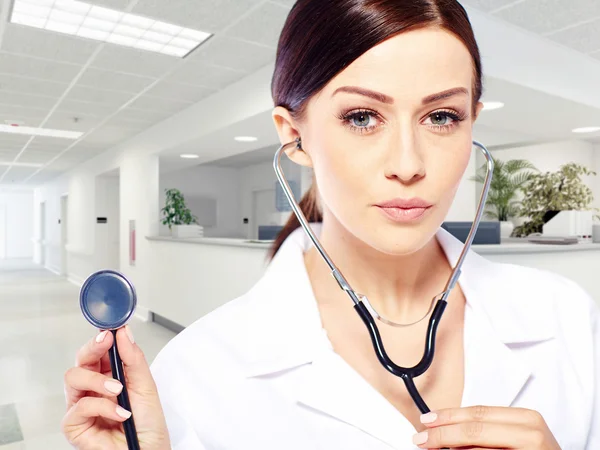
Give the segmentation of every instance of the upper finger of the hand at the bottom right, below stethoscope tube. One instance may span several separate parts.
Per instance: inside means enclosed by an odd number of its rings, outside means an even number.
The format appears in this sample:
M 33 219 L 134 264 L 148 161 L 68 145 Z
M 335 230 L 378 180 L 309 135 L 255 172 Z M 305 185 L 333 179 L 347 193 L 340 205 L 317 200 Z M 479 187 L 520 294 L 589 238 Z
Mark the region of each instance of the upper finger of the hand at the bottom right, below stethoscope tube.
M 428 428 L 465 422 L 495 422 L 537 428 L 544 423 L 542 416 L 529 409 L 491 406 L 443 409 L 421 416 Z

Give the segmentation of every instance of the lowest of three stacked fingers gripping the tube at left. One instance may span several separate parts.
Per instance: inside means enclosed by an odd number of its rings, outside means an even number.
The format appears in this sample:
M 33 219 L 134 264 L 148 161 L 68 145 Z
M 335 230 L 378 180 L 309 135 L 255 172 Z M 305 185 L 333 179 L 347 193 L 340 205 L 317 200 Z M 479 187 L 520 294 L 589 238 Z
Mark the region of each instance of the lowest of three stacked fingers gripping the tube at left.
M 95 417 L 124 422 L 131 417 L 131 412 L 106 398 L 84 397 L 74 404 L 63 418 L 62 431 L 69 436 L 74 429 L 85 426 Z

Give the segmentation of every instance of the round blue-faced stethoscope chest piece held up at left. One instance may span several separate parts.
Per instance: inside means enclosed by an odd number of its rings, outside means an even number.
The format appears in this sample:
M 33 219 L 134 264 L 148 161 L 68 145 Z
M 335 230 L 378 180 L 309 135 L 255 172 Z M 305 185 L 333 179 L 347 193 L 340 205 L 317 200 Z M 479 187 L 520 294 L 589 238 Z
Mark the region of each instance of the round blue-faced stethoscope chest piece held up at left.
M 133 285 L 113 270 L 90 275 L 81 287 L 79 300 L 85 318 L 101 330 L 116 330 L 124 326 L 137 304 Z

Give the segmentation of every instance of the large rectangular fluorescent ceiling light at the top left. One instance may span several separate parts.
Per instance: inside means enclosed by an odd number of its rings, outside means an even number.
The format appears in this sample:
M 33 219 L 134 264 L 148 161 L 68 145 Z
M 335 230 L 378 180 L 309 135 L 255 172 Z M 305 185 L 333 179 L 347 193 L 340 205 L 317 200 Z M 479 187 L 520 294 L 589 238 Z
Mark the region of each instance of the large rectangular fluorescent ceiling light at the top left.
M 211 36 L 76 0 L 15 0 L 10 21 L 180 58 Z

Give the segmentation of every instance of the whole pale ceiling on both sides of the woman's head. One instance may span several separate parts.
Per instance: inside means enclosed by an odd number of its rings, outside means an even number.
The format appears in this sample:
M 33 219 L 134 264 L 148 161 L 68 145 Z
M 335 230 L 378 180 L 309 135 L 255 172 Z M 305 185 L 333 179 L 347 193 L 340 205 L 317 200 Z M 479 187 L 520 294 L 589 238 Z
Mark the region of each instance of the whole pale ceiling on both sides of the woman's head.
M 7 23 L 0 0 L 0 124 L 82 131 L 78 141 L 0 134 L 0 185 L 44 183 L 272 63 L 294 0 L 88 0 L 214 33 L 185 59 Z M 599 0 L 462 0 L 502 22 L 583 52 L 600 64 Z M 486 100 L 506 107 L 483 114 L 475 137 L 490 146 L 571 139 L 600 111 L 501 80 L 486 81 Z M 559 113 L 557 113 L 559 112 Z M 588 123 L 591 119 L 594 123 Z M 255 143 L 233 136 L 251 134 Z M 479 136 L 479 137 L 478 137 Z M 600 133 L 581 136 L 600 142 Z M 241 155 L 277 143 L 270 114 L 171 148 L 169 169 Z M 200 160 L 180 153 L 202 151 Z M 238 157 L 244 158 L 242 156 Z M 249 155 L 247 158 L 251 158 Z M 235 159 L 229 161 L 235 164 Z M 227 164 L 227 161 L 224 162 Z

